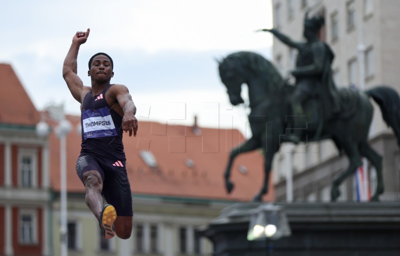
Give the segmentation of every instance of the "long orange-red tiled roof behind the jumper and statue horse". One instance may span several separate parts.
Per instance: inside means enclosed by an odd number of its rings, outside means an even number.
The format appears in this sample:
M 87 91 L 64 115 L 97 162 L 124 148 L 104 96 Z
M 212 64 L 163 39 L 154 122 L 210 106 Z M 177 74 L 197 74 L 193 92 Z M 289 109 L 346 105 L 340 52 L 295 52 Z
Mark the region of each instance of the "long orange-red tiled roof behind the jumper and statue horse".
M 76 132 L 80 117 L 67 117 L 73 126 L 67 135 L 67 188 L 69 192 L 83 192 L 77 178 L 75 163 L 80 151 L 81 137 Z M 140 121 L 136 137 L 123 136 L 126 168 L 131 189 L 136 194 L 193 197 L 206 199 L 250 201 L 261 188 L 263 157 L 259 152 L 239 155 L 233 164 L 231 180 L 235 189 L 225 192 L 223 172 L 232 146 L 243 142 L 238 130 L 201 128 L 195 135 L 190 126 L 166 125 Z M 145 164 L 141 151 L 150 151 L 157 162 L 156 168 Z M 50 135 L 51 185 L 59 190 L 59 141 Z M 189 160 L 187 160 L 189 159 Z M 185 161 L 192 161 L 193 167 Z M 246 174 L 238 167 L 243 165 Z M 272 182 L 264 201 L 274 199 Z

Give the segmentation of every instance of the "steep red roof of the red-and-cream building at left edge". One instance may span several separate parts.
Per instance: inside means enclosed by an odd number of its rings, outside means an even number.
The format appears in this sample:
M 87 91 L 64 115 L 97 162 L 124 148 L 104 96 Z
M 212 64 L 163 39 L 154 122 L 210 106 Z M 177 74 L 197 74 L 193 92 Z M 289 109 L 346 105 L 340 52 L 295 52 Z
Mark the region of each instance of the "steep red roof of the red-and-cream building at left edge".
M 9 64 L 0 63 L 0 123 L 36 125 L 40 115 Z

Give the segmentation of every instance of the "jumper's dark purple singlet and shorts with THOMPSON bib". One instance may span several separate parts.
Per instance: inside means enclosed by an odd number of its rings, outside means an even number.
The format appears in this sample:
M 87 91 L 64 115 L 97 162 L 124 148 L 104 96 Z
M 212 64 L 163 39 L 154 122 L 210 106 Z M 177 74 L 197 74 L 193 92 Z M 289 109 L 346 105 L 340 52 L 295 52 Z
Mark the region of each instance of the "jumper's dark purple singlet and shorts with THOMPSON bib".
M 103 180 L 102 195 L 114 206 L 118 216 L 132 216 L 132 196 L 126 174 L 126 158 L 122 144 L 122 117 L 108 106 L 105 93 L 88 92 L 82 103 L 80 125 L 82 143 L 76 161 L 76 173 L 96 170 Z

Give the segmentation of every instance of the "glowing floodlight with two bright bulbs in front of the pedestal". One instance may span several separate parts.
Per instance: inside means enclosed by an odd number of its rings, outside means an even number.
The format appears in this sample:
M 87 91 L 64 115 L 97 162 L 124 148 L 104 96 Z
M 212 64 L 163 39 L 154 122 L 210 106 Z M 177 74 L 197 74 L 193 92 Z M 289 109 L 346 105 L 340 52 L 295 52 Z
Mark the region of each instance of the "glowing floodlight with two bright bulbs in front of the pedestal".
M 269 250 L 269 240 L 277 240 L 291 235 L 286 213 L 280 206 L 262 204 L 250 212 L 247 240 L 266 240 Z

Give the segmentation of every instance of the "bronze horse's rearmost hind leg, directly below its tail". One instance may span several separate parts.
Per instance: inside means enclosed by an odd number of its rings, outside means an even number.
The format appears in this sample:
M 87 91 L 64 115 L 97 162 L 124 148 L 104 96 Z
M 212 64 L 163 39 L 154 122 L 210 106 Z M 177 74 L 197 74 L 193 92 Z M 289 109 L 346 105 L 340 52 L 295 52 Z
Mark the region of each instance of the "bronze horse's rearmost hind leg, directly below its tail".
M 366 157 L 375 167 L 377 186 L 376 191 L 371 197 L 371 201 L 379 201 L 379 196 L 383 194 L 383 178 L 382 178 L 382 157 L 374 151 L 369 144 L 364 141 L 360 144 L 361 154 Z

